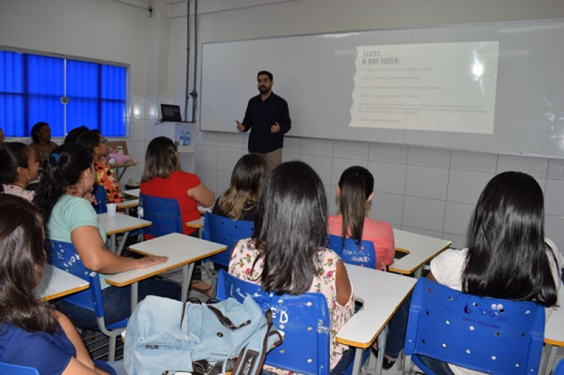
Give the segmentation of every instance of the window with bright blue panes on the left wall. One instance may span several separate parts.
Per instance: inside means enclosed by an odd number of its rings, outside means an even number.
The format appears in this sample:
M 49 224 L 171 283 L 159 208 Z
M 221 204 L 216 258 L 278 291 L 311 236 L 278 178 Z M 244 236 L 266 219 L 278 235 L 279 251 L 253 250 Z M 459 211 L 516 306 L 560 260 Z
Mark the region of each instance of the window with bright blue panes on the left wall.
M 0 127 L 30 136 L 36 122 L 53 136 L 86 125 L 125 136 L 127 67 L 71 58 L 0 51 Z

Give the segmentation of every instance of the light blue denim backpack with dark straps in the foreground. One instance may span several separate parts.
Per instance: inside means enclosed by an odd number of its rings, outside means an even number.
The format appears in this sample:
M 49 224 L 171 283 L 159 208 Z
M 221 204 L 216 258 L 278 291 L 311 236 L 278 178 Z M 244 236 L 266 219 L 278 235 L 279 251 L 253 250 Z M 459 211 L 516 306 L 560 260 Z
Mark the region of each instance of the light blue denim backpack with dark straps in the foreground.
M 251 296 L 212 305 L 149 295 L 131 314 L 123 359 L 129 375 L 258 375 L 283 338 Z

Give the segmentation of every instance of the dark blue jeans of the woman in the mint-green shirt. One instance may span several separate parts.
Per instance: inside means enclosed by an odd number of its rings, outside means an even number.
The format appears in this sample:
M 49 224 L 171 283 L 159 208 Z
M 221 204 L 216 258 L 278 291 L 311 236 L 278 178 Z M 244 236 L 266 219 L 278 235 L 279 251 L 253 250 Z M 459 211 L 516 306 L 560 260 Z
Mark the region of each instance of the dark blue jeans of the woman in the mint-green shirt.
M 180 300 L 180 285 L 172 281 L 147 279 L 139 282 L 138 299 L 142 300 L 147 295 Z M 130 316 L 131 286 L 109 286 L 102 290 L 104 300 L 104 322 L 106 326 L 119 322 Z M 73 305 L 63 300 L 55 303 L 57 309 L 71 319 L 75 326 L 82 329 L 98 329 L 96 314 L 92 310 Z

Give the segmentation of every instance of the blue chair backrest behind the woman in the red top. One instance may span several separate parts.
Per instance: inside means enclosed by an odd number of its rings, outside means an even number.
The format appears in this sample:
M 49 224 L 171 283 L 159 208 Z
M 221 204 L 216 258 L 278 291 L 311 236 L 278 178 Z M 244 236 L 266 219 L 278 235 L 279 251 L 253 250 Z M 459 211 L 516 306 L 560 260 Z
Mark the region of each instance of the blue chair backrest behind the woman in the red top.
M 160 237 L 170 233 L 183 233 L 180 205 L 174 198 L 159 198 L 139 194 L 139 205 L 143 208 L 142 218 L 153 224 L 144 229 L 149 236 Z

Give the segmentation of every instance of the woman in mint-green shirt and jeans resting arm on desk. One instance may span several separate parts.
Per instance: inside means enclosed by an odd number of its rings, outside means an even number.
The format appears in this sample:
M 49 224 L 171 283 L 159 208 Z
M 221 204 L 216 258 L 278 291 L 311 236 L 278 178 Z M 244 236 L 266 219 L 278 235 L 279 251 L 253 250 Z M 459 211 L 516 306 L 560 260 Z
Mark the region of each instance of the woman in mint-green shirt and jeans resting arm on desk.
M 166 257 L 127 258 L 106 250 L 106 231 L 87 196 L 94 185 L 92 155 L 79 144 L 64 144 L 54 149 L 47 162 L 34 203 L 47 224 L 47 238 L 73 243 L 87 269 L 100 273 L 106 325 L 130 314 L 131 288 L 106 284 L 106 274 L 151 267 L 166 262 Z M 171 281 L 147 279 L 139 282 L 139 300 L 146 295 L 180 299 L 180 286 Z M 96 315 L 85 308 L 56 302 L 76 326 L 97 328 Z

